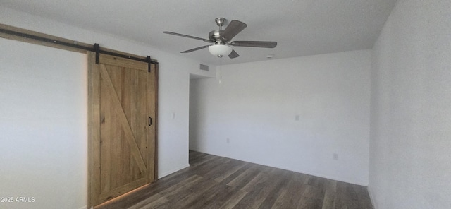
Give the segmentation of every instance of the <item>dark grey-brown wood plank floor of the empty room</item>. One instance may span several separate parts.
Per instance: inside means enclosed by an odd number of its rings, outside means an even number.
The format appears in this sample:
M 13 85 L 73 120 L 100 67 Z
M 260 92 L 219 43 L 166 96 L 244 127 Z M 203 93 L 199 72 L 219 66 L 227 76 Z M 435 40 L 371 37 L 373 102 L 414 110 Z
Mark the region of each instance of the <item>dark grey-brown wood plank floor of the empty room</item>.
M 372 208 L 365 186 L 194 151 L 190 165 L 98 208 Z

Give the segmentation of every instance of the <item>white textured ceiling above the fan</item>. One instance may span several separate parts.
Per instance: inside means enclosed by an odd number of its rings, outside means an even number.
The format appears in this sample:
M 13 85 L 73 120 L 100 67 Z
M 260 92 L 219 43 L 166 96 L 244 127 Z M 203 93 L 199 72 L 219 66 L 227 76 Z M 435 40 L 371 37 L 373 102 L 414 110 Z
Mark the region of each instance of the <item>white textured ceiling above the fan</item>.
M 247 28 L 233 40 L 276 41 L 274 49 L 234 47 L 240 57 L 217 58 L 208 49 L 182 54 L 203 64 L 236 64 L 357 49 L 370 49 L 396 0 L 1 0 L 0 6 L 143 42 L 178 54 L 205 42 L 217 17 Z M 228 22 L 226 22 L 227 24 Z

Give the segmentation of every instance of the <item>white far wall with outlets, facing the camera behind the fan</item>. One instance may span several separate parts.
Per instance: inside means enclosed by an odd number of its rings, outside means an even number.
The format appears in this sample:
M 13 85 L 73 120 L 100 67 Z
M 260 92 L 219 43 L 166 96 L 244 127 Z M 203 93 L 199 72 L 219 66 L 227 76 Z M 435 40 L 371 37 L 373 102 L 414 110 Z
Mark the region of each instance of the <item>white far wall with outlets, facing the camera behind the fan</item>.
M 218 66 L 191 80 L 190 148 L 367 185 L 370 68 L 370 50 Z

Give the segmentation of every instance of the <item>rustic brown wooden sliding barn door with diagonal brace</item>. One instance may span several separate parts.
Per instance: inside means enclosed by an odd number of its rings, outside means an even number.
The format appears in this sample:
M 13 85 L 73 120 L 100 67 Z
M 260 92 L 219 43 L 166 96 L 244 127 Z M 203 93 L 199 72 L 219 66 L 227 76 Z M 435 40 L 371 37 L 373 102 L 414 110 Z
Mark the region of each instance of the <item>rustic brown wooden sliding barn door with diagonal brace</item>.
M 92 206 L 149 184 L 156 167 L 157 69 L 89 53 L 89 201 Z

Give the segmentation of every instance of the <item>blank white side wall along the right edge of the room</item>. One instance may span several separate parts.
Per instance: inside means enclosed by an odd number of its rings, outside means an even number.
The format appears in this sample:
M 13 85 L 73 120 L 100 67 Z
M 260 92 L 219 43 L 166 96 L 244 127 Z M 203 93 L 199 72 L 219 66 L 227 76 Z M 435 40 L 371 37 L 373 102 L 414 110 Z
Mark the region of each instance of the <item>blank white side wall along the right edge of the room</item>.
M 397 1 L 371 80 L 374 205 L 451 208 L 451 1 Z

